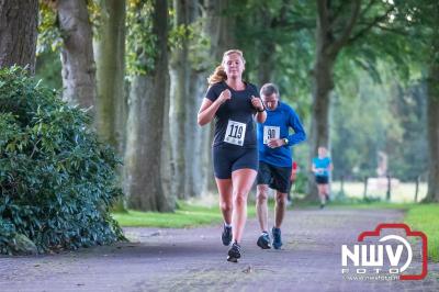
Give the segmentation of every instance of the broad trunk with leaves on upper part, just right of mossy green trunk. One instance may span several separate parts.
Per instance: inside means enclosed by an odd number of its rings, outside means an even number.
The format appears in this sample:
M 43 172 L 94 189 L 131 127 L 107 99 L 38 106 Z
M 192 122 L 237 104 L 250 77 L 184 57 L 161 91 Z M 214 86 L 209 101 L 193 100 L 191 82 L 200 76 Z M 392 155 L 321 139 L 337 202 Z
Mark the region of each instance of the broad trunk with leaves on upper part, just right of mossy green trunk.
M 168 115 L 168 4 L 166 0 L 136 1 L 128 11 L 128 68 L 132 72 L 124 189 L 130 206 L 171 211 L 162 181 L 164 116 Z M 168 104 L 169 105 L 169 104 Z

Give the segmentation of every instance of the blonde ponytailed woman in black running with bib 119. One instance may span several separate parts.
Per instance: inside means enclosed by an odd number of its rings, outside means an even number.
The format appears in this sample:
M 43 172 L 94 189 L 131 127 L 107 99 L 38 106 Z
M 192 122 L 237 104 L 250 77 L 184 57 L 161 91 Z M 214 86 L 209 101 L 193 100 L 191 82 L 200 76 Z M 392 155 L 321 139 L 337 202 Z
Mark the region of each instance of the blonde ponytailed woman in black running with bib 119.
M 215 122 L 212 145 L 219 207 L 224 217 L 222 242 L 230 246 L 227 260 L 240 258 L 240 242 L 247 220 L 247 196 L 258 171 L 255 121 L 263 123 L 266 109 L 256 86 L 243 80 L 243 52 L 224 53 L 221 66 L 209 77 L 198 123 Z

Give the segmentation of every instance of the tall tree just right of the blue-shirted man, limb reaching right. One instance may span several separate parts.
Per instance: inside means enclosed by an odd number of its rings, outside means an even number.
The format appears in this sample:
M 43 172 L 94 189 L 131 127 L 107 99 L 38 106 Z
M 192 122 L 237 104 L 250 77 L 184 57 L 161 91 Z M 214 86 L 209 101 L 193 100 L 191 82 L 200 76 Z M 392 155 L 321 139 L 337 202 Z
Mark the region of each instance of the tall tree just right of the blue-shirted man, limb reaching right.
M 384 30 L 383 26 L 389 25 L 394 11 L 395 5 L 390 1 L 369 0 L 362 4 L 360 0 L 350 2 L 317 0 L 309 158 L 316 156 L 319 146 L 330 148 L 330 93 L 335 86 L 334 68 L 340 52 L 363 38 L 374 27 Z M 308 179 L 307 199 L 317 199 L 317 190 L 312 177 Z

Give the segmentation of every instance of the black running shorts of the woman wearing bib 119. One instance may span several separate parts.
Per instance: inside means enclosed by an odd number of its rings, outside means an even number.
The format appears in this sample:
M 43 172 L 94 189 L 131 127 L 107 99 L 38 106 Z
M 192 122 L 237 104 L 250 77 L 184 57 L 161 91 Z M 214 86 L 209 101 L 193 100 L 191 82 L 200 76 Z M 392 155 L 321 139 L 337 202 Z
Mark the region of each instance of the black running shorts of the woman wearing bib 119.
M 215 178 L 229 179 L 237 169 L 250 168 L 258 171 L 258 149 L 241 147 L 213 147 L 213 170 Z

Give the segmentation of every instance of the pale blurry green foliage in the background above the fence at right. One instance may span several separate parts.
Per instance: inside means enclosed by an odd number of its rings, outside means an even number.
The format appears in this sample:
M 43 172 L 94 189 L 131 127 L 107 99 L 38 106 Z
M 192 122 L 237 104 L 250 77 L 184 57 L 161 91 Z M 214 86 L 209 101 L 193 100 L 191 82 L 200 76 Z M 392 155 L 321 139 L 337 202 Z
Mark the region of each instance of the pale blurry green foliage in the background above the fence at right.
M 414 181 L 427 169 L 425 89 L 416 80 L 404 88 L 384 65 L 376 66 L 381 83 L 352 67 L 351 78 L 334 97 L 331 148 L 337 179 L 375 177 L 378 151 L 389 155 L 387 170 L 401 180 Z

